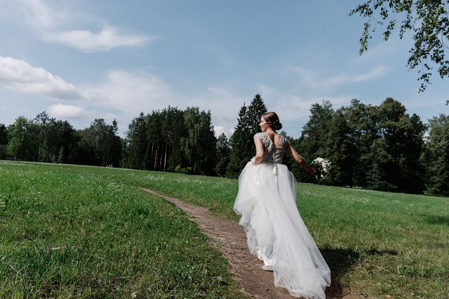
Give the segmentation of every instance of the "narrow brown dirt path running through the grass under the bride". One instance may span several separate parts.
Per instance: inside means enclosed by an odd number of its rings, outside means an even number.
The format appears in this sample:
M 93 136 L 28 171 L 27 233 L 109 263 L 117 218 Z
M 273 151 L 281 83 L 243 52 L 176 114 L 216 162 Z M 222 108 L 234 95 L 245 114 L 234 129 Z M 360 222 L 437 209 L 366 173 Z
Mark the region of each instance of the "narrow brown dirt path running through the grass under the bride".
M 165 198 L 184 210 L 189 218 L 214 240 L 215 247 L 223 252 L 229 262 L 230 271 L 235 274 L 243 290 L 253 296 L 252 298 L 294 298 L 287 290 L 274 287 L 273 273 L 262 270 L 263 263 L 248 251 L 246 235 L 240 225 L 212 215 L 207 208 L 194 206 L 150 189 L 141 189 Z M 334 282 L 326 289 L 326 299 L 359 298 L 361 297 L 348 294 L 347 290 Z

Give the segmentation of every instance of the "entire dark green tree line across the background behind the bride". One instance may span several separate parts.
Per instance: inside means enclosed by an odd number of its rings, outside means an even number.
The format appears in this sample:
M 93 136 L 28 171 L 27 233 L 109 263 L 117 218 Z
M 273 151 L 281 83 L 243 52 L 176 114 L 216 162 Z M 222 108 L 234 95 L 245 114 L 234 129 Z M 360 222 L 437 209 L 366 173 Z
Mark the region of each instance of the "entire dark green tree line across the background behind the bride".
M 18 117 L 0 124 L 0 159 L 114 166 L 186 174 L 238 177 L 254 155 L 253 135 L 267 112 L 256 94 L 243 104 L 229 138 L 216 138 L 210 112 L 198 107 L 168 107 L 145 115 L 118 136 L 117 121 L 95 119 L 88 128 L 74 129 L 67 121 Z M 289 156 L 286 164 L 298 181 L 373 190 L 449 195 L 449 117 L 440 114 L 424 124 L 400 102 L 381 105 L 354 99 L 334 109 L 329 101 L 313 104 L 297 139 L 288 137 L 307 161 L 321 156 L 332 171 L 315 180 Z

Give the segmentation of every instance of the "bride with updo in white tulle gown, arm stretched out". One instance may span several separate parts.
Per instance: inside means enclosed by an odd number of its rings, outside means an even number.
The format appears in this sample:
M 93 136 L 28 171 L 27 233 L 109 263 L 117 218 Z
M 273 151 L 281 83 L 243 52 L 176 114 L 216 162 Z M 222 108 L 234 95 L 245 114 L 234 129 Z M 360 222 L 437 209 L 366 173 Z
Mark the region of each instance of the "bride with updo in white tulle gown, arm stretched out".
M 330 270 L 296 207 L 296 180 L 282 163 L 286 151 L 310 174 L 311 168 L 288 140 L 274 112 L 260 118 L 262 133 L 254 135 L 256 155 L 241 171 L 234 210 L 241 215 L 249 251 L 273 271 L 274 285 L 290 295 L 325 299 Z

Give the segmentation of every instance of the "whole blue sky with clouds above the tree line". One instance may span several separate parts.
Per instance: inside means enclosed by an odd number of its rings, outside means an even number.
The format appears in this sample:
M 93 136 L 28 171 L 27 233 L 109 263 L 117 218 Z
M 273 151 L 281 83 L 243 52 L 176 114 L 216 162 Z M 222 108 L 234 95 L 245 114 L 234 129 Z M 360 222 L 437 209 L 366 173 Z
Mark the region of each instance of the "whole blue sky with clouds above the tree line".
M 448 114 L 449 79 L 418 93 L 411 35 L 384 42 L 379 29 L 359 55 L 363 20 L 348 16 L 358 3 L 0 0 L 0 123 L 42 111 L 77 129 L 117 118 L 124 136 L 141 111 L 199 106 L 229 137 L 256 93 L 295 138 L 322 99 L 393 97 L 424 122 Z

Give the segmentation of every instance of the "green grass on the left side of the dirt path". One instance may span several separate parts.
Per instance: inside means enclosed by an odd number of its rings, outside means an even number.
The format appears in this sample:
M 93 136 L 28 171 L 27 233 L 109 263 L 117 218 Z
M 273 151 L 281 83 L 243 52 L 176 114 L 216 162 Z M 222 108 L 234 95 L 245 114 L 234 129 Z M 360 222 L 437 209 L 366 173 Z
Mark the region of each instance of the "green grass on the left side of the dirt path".
M 183 211 L 91 170 L 0 161 L 0 298 L 244 298 Z

